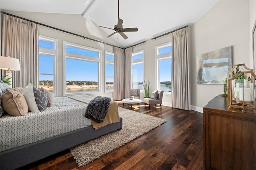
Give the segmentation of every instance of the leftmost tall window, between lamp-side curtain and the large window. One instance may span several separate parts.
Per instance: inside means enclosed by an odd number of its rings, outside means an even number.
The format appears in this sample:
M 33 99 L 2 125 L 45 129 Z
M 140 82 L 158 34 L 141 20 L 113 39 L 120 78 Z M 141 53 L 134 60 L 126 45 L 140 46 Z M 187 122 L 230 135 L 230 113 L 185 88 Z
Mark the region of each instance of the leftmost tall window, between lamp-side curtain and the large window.
M 56 56 L 58 40 L 46 36 L 39 36 L 39 87 L 57 95 Z

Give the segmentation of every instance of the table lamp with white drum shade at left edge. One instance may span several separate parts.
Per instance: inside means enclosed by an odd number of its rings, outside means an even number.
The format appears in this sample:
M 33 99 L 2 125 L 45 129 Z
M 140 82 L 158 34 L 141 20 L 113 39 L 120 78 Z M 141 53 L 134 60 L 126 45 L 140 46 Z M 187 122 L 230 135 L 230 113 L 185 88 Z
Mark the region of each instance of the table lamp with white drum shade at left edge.
M 0 69 L 7 70 L 6 79 L 10 78 L 10 87 L 12 88 L 12 72 L 10 70 L 20 71 L 19 59 L 0 56 Z

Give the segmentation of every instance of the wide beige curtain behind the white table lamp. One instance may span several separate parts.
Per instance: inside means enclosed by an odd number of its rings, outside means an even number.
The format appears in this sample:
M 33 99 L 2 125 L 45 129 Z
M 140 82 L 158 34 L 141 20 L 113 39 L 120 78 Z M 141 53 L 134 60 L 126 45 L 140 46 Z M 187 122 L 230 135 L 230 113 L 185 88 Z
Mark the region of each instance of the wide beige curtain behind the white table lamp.
M 12 87 L 38 87 L 38 24 L 3 15 L 2 55 L 20 60 L 20 71 L 12 71 Z

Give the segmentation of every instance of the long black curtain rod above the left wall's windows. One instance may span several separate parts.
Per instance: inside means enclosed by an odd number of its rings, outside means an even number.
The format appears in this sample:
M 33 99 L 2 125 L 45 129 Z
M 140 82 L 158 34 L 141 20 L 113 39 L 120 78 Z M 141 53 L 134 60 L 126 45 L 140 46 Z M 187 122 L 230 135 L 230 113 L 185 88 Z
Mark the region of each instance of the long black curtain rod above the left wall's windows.
M 41 25 L 41 26 L 45 26 L 45 27 L 48 27 L 48 28 L 52 28 L 52 29 L 55 29 L 55 30 L 58 30 L 58 31 L 61 31 L 61 32 L 66 32 L 66 33 L 72 34 L 72 35 L 74 35 L 74 36 L 82 37 L 82 38 L 84 38 L 84 39 L 92 40 L 92 41 L 99 42 L 99 43 L 104 43 L 104 44 L 106 44 L 106 45 L 111 45 L 111 46 L 113 46 L 113 47 L 118 47 L 118 46 L 116 46 L 116 45 L 112 45 L 112 44 L 109 44 L 109 43 L 105 43 L 105 42 L 102 42 L 102 41 L 99 41 L 99 40 L 94 40 L 94 39 L 92 39 L 92 38 L 88 38 L 88 37 L 85 37 L 85 36 L 81 36 L 81 35 L 79 35 L 79 34 L 75 34 L 75 33 L 72 33 L 72 32 L 68 32 L 68 31 L 65 31 L 65 30 L 61 30 L 61 29 L 59 29 L 59 28 L 55 28 L 55 27 L 52 27 L 52 26 L 48 26 L 48 25 L 42 24 L 42 23 L 40 23 L 40 22 L 35 22 L 35 21 L 32 21 L 32 20 L 28 20 L 28 19 L 26 19 L 26 18 L 22 18 L 22 17 L 19 17 L 19 16 L 15 16 L 15 15 L 12 15 L 12 14 L 9 14 L 9 13 L 6 13 L 6 12 L 3 12 L 3 11 L 1 11 L 1 13 L 2 13 L 2 14 L 6 14 L 6 15 L 10 15 L 10 16 L 14 16 L 14 17 L 16 17 L 16 18 L 20 18 L 20 19 L 22 19 L 22 20 L 34 22 L 35 24 L 39 24 L 39 25 Z M 118 47 L 118 48 L 121 48 L 121 47 Z M 124 48 L 122 48 L 122 49 L 124 49 Z

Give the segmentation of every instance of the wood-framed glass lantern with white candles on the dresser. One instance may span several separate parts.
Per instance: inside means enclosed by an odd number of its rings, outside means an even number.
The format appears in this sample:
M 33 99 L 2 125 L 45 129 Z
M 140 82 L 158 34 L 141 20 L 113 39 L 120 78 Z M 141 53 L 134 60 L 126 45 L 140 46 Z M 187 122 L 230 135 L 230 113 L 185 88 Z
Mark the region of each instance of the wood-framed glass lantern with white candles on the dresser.
M 245 64 L 234 65 L 228 71 L 228 107 L 256 109 L 254 106 L 254 85 L 256 75 Z

